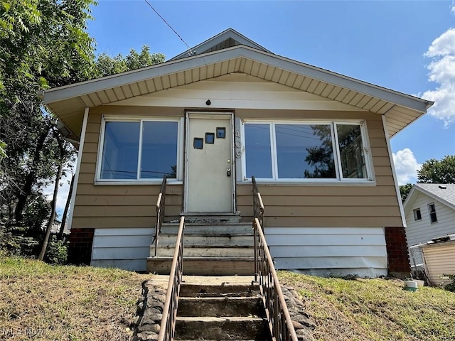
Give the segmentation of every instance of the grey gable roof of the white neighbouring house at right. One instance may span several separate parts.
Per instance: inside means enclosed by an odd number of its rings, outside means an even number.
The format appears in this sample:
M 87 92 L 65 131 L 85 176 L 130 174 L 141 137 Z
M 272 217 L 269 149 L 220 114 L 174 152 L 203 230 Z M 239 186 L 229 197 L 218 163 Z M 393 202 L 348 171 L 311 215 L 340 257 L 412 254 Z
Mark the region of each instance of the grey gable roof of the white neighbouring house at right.
M 455 210 L 455 184 L 440 184 L 440 183 L 416 183 L 412 186 L 410 194 L 407 195 L 403 207 L 405 213 L 410 212 L 412 205 L 417 198 L 418 193 L 424 193 L 432 199 L 441 202 L 442 204 Z

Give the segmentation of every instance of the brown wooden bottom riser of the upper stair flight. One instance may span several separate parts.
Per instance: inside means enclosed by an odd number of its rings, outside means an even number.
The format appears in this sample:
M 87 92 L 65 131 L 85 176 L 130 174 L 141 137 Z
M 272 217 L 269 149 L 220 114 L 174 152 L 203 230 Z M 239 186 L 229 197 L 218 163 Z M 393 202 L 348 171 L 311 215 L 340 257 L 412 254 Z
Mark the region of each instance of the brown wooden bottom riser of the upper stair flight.
M 171 257 L 149 257 L 147 272 L 168 275 L 171 265 Z M 183 274 L 196 276 L 253 275 L 255 274 L 255 260 L 252 257 L 185 257 Z

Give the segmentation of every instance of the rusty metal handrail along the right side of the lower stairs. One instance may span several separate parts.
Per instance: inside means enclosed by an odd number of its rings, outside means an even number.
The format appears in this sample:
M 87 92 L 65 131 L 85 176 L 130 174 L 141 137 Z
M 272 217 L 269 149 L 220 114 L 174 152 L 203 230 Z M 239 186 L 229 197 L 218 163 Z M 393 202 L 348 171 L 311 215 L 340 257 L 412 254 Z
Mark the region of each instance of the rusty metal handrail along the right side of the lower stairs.
M 273 340 L 297 341 L 296 331 L 279 285 L 277 271 L 275 271 L 272 256 L 257 217 L 253 220 L 253 229 L 255 231 L 255 269 L 257 269 L 255 278 L 259 280 L 262 301 L 264 301 Z

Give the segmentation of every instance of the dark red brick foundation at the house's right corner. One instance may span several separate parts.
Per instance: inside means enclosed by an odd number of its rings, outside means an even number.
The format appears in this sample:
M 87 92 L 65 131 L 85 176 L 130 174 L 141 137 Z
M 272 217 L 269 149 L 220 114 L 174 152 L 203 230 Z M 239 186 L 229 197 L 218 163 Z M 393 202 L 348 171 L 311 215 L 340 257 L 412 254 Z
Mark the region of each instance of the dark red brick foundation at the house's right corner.
M 404 227 L 385 227 L 387 248 L 387 269 L 389 274 L 399 278 L 410 276 L 410 259 L 407 252 Z

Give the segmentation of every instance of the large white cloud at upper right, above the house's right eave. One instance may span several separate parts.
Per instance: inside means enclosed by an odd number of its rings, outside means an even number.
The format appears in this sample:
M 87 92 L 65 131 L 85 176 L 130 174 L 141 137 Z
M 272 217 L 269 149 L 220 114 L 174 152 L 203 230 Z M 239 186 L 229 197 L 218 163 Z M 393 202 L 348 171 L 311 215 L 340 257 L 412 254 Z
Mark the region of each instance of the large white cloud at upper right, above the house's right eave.
M 455 13 L 454 2 L 451 11 Z M 444 121 L 444 126 L 449 126 L 455 121 L 455 28 L 434 39 L 424 56 L 432 58 L 427 66 L 428 79 L 438 85 L 435 90 L 424 92 L 422 97 L 435 102 L 428 110 L 429 114 Z

